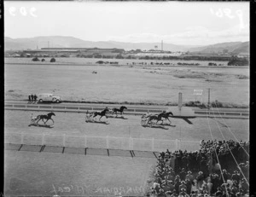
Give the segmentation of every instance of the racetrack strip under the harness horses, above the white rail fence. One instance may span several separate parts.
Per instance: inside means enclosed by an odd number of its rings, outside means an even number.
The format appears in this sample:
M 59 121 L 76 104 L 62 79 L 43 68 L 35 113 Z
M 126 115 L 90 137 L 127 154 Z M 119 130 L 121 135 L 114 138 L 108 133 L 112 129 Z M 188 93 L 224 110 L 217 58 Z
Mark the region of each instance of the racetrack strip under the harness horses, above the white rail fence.
M 140 116 L 133 115 L 124 115 L 126 119 L 113 119 L 108 118 L 108 125 L 105 124 L 96 124 L 96 123 L 86 123 L 85 122 L 85 113 L 55 113 L 55 126 L 54 128 L 44 128 L 44 127 L 35 127 L 28 126 L 30 123 L 31 113 L 29 111 L 5 111 L 5 136 L 9 136 L 11 138 L 11 133 L 21 133 L 24 132 L 28 135 L 32 134 L 49 134 L 49 135 L 63 135 L 67 136 L 96 136 L 96 138 L 103 139 L 106 136 L 117 137 L 117 139 L 121 137 L 125 137 L 129 139 L 137 138 L 137 139 L 149 139 L 158 140 L 154 142 L 155 150 L 166 149 L 166 147 L 161 146 L 161 144 L 166 144 L 166 140 L 170 140 L 168 142 L 171 144 L 176 139 L 181 140 L 181 148 L 188 149 L 197 149 L 199 148 L 199 142 L 201 140 L 211 139 L 211 133 L 209 130 L 208 121 L 206 118 L 196 118 L 190 119 L 193 125 L 189 125 L 183 119 L 172 119 L 172 125 L 176 125 L 176 127 L 172 126 L 160 126 L 160 127 L 143 127 L 140 123 Z M 34 113 L 34 115 L 44 114 L 45 112 Z M 46 113 L 45 113 L 46 114 Z M 102 118 L 102 121 L 107 120 L 105 117 Z M 247 141 L 249 139 L 249 120 L 248 119 L 209 119 L 209 124 L 212 131 L 212 136 L 217 140 L 243 140 Z M 225 126 L 228 125 L 229 127 Z M 224 137 L 223 137 L 224 136 Z M 234 137 L 236 136 L 236 138 Z M 79 137 L 79 138 L 81 138 Z M 48 137 L 49 138 L 49 137 Z M 49 139 L 50 140 L 50 139 Z M 183 141 L 189 141 L 183 142 Z M 40 144 L 39 140 L 39 144 Z M 62 139 L 56 139 L 52 141 L 53 143 L 62 144 Z M 105 141 L 104 141 L 105 142 Z M 151 142 L 151 141 L 150 141 Z M 99 142 L 101 143 L 101 142 Z M 111 146 L 111 142 L 110 146 Z M 114 144 L 114 139 L 113 139 Z M 92 144 L 95 145 L 95 144 Z M 115 149 L 119 149 L 119 144 Z M 103 147 L 104 148 L 104 147 Z M 134 144 L 134 148 L 143 148 L 141 145 Z M 172 147 L 170 147 L 172 149 Z M 175 147 L 173 147 L 175 148 Z M 122 148 L 120 148 L 122 149 Z M 127 148 L 125 148 L 127 149 Z M 147 150 L 147 147 L 143 148 L 143 150 Z M 150 150 L 149 150 L 150 151 Z

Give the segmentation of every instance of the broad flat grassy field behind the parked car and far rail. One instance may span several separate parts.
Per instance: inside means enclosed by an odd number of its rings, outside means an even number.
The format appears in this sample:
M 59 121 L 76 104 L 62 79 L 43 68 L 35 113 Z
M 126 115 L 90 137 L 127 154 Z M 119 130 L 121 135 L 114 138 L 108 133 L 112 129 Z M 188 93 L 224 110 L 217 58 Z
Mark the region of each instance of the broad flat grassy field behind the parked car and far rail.
M 183 93 L 183 102 L 207 102 L 211 89 L 211 101 L 224 102 L 225 107 L 249 103 L 248 67 L 93 66 L 83 58 L 57 60 L 62 66 L 11 63 L 26 61 L 7 59 L 5 99 L 24 100 L 31 93 L 49 92 L 66 101 L 175 104 L 178 92 Z M 65 62 L 69 65 L 63 66 Z M 203 90 L 202 96 L 195 97 L 194 90 Z

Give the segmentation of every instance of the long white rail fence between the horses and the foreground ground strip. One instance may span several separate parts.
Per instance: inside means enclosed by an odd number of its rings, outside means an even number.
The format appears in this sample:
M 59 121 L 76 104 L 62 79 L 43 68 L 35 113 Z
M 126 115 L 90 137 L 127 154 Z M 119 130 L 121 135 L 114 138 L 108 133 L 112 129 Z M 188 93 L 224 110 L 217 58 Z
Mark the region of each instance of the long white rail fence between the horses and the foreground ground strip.
M 138 151 L 170 151 L 188 150 L 194 151 L 200 148 L 200 142 L 182 140 L 162 140 L 146 139 L 133 137 L 115 136 L 71 136 L 67 134 L 32 134 L 7 132 L 4 135 L 5 143 L 26 144 L 26 145 L 45 145 L 55 147 L 70 148 L 108 148 L 119 150 L 138 150 Z

